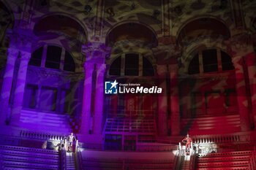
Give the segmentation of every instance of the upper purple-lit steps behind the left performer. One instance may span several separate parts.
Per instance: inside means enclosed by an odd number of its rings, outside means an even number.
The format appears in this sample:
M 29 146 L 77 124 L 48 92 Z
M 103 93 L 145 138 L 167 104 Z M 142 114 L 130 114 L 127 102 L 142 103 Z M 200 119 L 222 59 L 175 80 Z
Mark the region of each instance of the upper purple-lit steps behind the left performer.
M 50 112 L 36 112 L 22 110 L 20 112 L 20 124 L 23 128 L 33 131 L 50 131 L 69 134 L 72 131 L 69 115 L 61 115 Z

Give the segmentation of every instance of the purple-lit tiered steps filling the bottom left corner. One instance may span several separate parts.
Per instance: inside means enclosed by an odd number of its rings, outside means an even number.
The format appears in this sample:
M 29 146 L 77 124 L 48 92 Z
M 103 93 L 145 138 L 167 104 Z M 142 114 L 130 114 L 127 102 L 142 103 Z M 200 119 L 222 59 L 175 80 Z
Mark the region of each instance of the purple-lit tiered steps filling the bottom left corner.
M 0 145 L 0 158 L 4 170 L 59 169 L 59 152 L 55 150 Z

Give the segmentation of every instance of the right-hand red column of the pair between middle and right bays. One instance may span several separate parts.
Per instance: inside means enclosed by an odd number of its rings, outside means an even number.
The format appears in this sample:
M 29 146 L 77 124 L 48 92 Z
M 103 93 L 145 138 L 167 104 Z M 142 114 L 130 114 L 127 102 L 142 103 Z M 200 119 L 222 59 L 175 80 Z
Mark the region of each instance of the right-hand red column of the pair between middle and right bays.
M 178 101 L 178 64 L 169 65 L 170 71 L 170 130 L 172 136 L 180 134 L 180 112 Z

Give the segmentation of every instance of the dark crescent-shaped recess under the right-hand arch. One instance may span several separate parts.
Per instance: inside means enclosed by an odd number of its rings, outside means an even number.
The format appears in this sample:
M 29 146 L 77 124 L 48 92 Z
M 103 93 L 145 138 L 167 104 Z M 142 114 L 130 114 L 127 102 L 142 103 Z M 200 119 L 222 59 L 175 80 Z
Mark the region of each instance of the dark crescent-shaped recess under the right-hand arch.
M 193 18 L 184 23 L 178 30 L 176 41 L 178 45 L 183 45 L 185 41 L 192 42 L 193 39 L 202 36 L 222 36 L 223 39 L 229 39 L 230 29 L 219 18 L 201 16 L 200 18 Z

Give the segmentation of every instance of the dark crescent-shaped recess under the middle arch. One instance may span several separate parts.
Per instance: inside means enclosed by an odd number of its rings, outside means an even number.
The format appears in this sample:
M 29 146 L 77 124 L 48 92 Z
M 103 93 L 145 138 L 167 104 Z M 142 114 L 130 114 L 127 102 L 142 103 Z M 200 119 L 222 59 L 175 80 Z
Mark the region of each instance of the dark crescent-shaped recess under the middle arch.
M 116 26 L 110 28 L 106 34 L 105 44 L 112 46 L 113 43 L 124 39 L 140 39 L 146 45 L 153 47 L 158 45 L 157 34 L 154 29 L 135 20 L 118 23 Z

